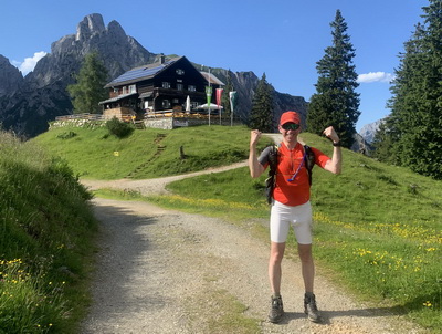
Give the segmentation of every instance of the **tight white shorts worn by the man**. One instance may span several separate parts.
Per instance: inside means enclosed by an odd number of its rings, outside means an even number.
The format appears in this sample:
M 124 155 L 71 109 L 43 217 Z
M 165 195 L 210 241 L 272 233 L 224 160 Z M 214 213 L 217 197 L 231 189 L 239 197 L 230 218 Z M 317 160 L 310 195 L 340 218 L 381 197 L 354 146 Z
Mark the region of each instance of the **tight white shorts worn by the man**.
M 270 239 L 277 243 L 285 242 L 291 225 L 295 231 L 297 243 L 312 244 L 312 206 L 309 201 L 296 207 L 273 201 L 270 216 Z

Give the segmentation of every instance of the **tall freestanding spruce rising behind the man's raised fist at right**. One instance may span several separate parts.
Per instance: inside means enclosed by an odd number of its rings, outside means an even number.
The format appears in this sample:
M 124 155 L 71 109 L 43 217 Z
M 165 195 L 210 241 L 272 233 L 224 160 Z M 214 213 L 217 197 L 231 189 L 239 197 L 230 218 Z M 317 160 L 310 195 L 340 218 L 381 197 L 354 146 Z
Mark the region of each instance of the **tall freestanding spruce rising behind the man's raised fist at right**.
M 322 134 L 333 125 L 341 144 L 350 147 L 359 118 L 359 94 L 356 88 L 357 73 L 352 59 L 355 49 L 346 33 L 347 23 L 339 10 L 336 11 L 333 29 L 333 45 L 325 49 L 325 55 L 316 63 L 318 81 L 316 93 L 311 97 L 307 114 L 307 129 Z

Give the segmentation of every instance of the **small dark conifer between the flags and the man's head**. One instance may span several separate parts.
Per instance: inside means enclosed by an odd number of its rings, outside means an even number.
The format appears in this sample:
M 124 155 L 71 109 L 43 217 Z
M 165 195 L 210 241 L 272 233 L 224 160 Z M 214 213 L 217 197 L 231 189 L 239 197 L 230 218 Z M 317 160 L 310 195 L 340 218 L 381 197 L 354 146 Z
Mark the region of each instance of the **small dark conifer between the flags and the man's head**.
M 253 96 L 249 126 L 264 133 L 272 133 L 275 128 L 273 121 L 272 91 L 266 81 L 265 73 L 257 83 L 255 95 Z

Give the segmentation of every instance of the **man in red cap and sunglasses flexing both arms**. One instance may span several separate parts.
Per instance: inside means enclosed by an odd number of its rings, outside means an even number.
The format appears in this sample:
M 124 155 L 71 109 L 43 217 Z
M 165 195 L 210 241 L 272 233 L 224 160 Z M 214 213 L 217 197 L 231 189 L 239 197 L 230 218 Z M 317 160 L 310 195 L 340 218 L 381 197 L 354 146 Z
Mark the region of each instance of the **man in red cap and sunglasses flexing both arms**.
M 311 185 L 306 168 L 305 148 L 298 143 L 301 133 L 299 115 L 295 112 L 282 114 L 278 129 L 283 140 L 277 152 L 276 181 L 273 190 L 270 219 L 269 279 L 272 290 L 272 306 L 269 320 L 277 323 L 284 315 L 281 298 L 281 262 L 284 257 L 290 226 L 292 226 L 296 236 L 305 286 L 304 311 L 311 321 L 320 322 L 322 317 L 313 293 L 315 267 L 312 257 Z M 330 173 L 340 174 L 341 153 L 339 137 L 332 126 L 324 131 L 324 135 L 333 142 L 333 157 L 329 158 L 320 150 L 312 147 L 311 149 L 315 154 L 315 164 Z M 260 137 L 261 133 L 257 129 L 251 132 L 249 168 L 253 178 L 260 177 L 269 166 L 271 147 L 264 149 L 260 157 L 256 155 L 256 144 Z

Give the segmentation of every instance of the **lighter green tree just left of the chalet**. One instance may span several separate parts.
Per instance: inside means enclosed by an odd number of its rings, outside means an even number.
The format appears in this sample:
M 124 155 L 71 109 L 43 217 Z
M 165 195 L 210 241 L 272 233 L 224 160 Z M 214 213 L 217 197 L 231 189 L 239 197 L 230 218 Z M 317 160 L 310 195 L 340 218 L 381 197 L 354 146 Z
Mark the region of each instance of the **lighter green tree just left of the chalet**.
M 104 88 L 107 82 L 107 70 L 97 53 L 86 54 L 83 65 L 76 75 L 76 84 L 67 86 L 74 106 L 74 114 L 98 114 L 98 102 L 108 96 Z

